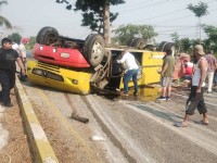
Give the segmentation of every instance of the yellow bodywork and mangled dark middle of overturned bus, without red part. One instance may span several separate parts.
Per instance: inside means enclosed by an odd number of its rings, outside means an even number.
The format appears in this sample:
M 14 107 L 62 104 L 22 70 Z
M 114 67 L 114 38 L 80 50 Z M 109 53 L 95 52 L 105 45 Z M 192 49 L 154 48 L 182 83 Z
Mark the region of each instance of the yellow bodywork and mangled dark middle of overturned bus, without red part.
M 124 49 L 106 48 L 105 59 L 93 68 L 64 67 L 40 61 L 27 62 L 27 77 L 30 83 L 69 92 L 87 95 L 93 89 L 110 90 L 118 93 L 124 88 L 124 68 L 116 60 Z M 140 64 L 138 85 L 159 82 L 164 52 L 129 49 Z M 133 86 L 129 82 L 129 87 Z

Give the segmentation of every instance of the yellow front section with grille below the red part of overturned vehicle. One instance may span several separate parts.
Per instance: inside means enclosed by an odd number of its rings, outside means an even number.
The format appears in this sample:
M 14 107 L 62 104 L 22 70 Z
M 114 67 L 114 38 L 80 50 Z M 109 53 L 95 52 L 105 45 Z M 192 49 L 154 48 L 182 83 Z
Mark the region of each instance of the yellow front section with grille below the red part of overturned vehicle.
M 41 73 L 50 73 L 47 77 Z M 37 61 L 27 62 L 27 77 L 30 83 L 69 92 L 87 95 L 90 91 L 90 73 L 62 68 Z

